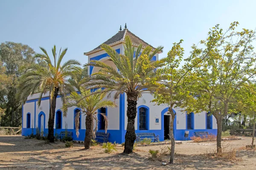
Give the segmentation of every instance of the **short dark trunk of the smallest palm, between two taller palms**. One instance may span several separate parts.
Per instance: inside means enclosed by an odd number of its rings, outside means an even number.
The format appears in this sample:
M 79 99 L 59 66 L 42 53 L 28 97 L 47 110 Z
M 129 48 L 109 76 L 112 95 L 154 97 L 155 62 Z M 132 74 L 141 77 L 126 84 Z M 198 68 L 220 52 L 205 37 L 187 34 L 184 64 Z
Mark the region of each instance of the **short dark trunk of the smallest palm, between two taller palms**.
M 84 149 L 90 149 L 90 142 L 93 138 L 93 116 L 86 115 L 85 118 L 85 138 L 84 138 Z

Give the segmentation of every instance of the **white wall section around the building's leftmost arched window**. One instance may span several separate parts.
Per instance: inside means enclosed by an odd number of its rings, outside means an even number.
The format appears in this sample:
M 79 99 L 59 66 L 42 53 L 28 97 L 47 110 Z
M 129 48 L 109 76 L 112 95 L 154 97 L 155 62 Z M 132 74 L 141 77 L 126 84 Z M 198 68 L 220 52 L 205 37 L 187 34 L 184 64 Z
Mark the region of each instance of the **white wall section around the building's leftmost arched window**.
M 23 128 L 26 128 L 26 114 L 30 113 L 30 127 L 35 127 L 35 102 L 23 105 Z

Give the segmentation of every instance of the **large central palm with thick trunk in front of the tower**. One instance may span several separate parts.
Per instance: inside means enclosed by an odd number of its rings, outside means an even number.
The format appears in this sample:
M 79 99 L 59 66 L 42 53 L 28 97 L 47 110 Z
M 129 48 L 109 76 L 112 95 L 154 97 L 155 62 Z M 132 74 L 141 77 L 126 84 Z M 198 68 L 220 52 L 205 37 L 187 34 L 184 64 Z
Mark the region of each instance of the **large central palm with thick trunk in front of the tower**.
M 100 71 L 88 77 L 84 85 L 88 88 L 104 88 L 102 93 L 105 94 L 113 92 L 114 99 L 123 93 L 127 95 L 128 123 L 124 153 L 131 153 L 136 139 L 134 123 L 137 115 L 137 100 L 143 93 L 151 92 L 156 87 L 151 80 L 157 79 L 155 69 L 162 67 L 165 59 L 151 61 L 152 57 L 163 49 L 162 46 L 157 47 L 154 51 L 151 46 L 147 46 L 143 50 L 142 44 L 135 48 L 132 46 L 129 36 L 125 37 L 124 47 L 125 52 L 122 55 L 109 45 L 102 44 L 101 48 L 107 52 L 109 59 L 113 61 L 118 70 L 103 62 L 93 60 L 84 66 L 99 67 Z M 140 54 L 141 51 L 142 54 Z

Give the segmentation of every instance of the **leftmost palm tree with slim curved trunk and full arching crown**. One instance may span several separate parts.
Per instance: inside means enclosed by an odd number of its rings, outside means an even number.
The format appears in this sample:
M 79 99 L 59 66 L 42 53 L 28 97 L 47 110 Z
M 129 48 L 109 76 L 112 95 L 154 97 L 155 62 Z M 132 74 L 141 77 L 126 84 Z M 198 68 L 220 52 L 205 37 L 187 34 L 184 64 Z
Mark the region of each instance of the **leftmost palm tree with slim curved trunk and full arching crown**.
M 74 90 L 70 85 L 69 79 L 73 77 L 81 68 L 78 67 L 80 63 L 75 59 L 70 59 L 61 65 L 61 61 L 67 52 L 67 48 L 59 51 L 58 58 L 56 53 L 56 46 L 52 48 L 53 64 L 47 54 L 47 51 L 40 47 L 44 54 L 35 54 L 35 58 L 43 60 L 47 63 L 47 67 L 39 64 L 32 64 L 23 66 L 24 74 L 20 77 L 19 93 L 18 95 L 26 101 L 26 98 L 35 93 L 40 93 L 38 99 L 38 106 L 41 105 L 41 99 L 44 94 L 49 92 L 49 120 L 48 120 L 48 136 L 49 142 L 54 142 L 54 118 L 57 96 L 61 96 L 63 103 L 66 103 L 67 93 Z

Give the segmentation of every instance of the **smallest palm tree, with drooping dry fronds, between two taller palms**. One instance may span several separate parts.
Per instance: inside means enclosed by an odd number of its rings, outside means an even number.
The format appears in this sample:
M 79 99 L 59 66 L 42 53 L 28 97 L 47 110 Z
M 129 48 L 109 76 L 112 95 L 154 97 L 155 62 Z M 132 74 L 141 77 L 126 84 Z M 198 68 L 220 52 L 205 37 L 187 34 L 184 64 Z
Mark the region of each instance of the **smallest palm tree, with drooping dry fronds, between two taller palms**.
M 67 116 L 68 108 L 76 106 L 81 108 L 81 111 L 76 113 L 75 126 L 76 126 L 76 136 L 79 136 L 79 116 L 84 114 L 85 118 L 85 138 L 84 138 L 84 148 L 87 150 L 90 148 L 91 139 L 95 138 L 95 132 L 98 127 L 98 109 L 106 107 L 116 107 L 116 104 L 110 100 L 102 99 L 104 95 L 100 94 L 101 89 L 98 89 L 95 94 L 92 94 L 90 90 L 86 90 L 80 87 L 80 94 L 76 91 L 71 92 L 70 96 L 67 96 L 67 103 L 63 105 L 61 110 L 63 111 L 63 116 Z M 105 119 L 105 131 L 108 128 L 108 119 L 104 113 L 100 113 Z M 95 130 L 93 131 L 94 122 L 96 122 Z

